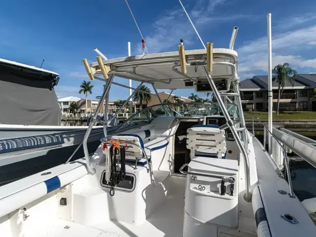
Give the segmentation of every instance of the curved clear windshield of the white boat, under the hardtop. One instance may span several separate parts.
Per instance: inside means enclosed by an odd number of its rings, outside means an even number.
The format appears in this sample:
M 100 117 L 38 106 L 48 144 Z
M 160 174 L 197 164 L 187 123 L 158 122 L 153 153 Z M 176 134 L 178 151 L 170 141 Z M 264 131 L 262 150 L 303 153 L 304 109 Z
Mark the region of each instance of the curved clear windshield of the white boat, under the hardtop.
M 239 117 L 236 104 L 227 103 L 227 111 L 231 117 Z M 147 107 L 125 121 L 118 130 L 126 130 L 134 126 L 150 123 L 159 116 L 224 116 L 218 103 L 166 103 Z

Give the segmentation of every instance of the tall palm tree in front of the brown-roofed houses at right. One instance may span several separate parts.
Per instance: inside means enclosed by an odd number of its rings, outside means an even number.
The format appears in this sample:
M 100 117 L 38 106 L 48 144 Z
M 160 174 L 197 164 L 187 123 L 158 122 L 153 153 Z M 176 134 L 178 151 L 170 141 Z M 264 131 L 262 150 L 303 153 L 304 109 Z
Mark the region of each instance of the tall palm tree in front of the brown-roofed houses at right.
M 278 87 L 277 87 L 278 96 L 277 96 L 277 110 L 276 110 L 276 114 L 278 115 L 280 95 L 285 86 L 285 82 L 288 79 L 291 82 L 292 86 L 294 86 L 297 72 L 294 69 L 290 68 L 288 63 L 284 63 L 283 65 L 281 64 L 276 65 L 276 67 L 272 70 L 272 73 L 276 76 L 272 80 L 278 82 Z

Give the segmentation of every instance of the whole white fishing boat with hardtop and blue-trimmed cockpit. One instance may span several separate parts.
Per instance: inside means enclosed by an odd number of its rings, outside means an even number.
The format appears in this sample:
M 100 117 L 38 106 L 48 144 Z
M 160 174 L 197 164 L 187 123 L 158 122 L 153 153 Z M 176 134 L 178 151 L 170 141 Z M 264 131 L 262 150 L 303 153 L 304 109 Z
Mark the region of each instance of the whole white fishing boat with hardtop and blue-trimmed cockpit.
M 151 84 L 157 96 L 157 89 L 194 88 L 218 103 L 163 104 L 158 96 L 161 104 L 105 134 L 89 156 L 93 119 L 84 158 L 0 187 L 1 236 L 315 237 L 286 152 L 288 180 L 280 171 L 283 146 L 265 128 L 275 139 L 271 157 L 245 127 L 237 52 L 212 46 L 83 60 L 91 79 L 106 79 L 100 101 L 118 76 Z M 312 211 L 313 203 L 305 206 Z

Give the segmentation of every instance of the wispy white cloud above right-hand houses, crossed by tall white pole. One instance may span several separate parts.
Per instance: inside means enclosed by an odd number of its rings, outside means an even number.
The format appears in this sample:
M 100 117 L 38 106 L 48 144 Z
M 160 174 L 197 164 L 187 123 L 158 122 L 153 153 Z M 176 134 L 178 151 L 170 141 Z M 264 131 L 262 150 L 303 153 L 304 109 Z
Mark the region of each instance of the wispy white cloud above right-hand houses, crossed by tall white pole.
M 304 48 L 310 48 L 316 41 L 316 25 L 275 34 L 272 38 L 272 66 L 288 62 L 291 67 L 316 68 L 316 59 L 305 59 L 299 55 Z M 268 71 L 267 38 L 248 42 L 237 49 L 238 72 L 246 75 L 255 70 Z M 297 53 L 297 55 L 296 55 Z

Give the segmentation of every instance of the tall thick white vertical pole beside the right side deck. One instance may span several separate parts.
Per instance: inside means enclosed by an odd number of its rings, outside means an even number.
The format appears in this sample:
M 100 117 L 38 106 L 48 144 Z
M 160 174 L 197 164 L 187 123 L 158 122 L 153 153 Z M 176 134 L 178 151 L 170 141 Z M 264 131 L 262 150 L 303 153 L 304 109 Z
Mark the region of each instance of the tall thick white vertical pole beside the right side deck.
M 269 109 L 269 130 L 272 132 L 272 38 L 271 38 L 271 13 L 267 15 L 268 23 L 268 109 Z M 269 142 L 269 154 L 272 154 L 272 136 L 268 133 Z M 265 144 L 266 145 L 266 144 Z

